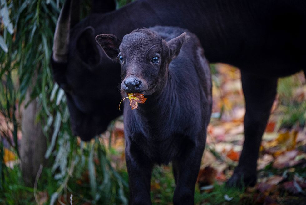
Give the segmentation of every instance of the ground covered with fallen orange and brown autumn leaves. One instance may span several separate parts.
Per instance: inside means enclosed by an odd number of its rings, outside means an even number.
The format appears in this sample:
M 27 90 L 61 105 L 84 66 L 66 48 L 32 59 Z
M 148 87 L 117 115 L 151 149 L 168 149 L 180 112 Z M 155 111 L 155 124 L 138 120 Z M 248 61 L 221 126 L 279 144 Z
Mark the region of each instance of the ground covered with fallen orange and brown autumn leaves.
M 207 146 L 196 184 L 196 204 L 306 204 L 306 86 L 303 73 L 279 81 L 258 159 L 258 183 L 243 190 L 227 188 L 224 182 L 237 165 L 243 144 L 244 98 L 240 72 L 225 64 L 213 65 L 213 114 Z M 304 120 L 304 121 L 303 121 Z M 5 123 L 0 123 L 1 130 Z M 21 136 L 20 136 L 21 138 Z M 122 120 L 112 123 L 100 138 L 110 153 L 111 166 L 127 180 Z M 93 142 L 90 142 L 93 143 Z M 7 167 L 14 167 L 16 154 L 4 148 Z M 95 163 L 98 161 L 94 158 Z M 83 173 L 77 184 L 88 183 Z M 151 179 L 153 204 L 172 204 L 175 182 L 172 168 L 155 167 Z M 38 192 L 40 202 L 50 198 Z M 90 201 L 85 204 L 91 204 Z

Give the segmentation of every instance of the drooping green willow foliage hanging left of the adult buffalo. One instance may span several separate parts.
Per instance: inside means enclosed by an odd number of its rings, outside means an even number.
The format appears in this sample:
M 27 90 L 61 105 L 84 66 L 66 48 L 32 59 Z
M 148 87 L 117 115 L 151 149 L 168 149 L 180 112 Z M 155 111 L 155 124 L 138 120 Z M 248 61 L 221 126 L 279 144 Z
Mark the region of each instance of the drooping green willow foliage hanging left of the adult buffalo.
M 19 110 L 22 104 L 29 103 L 25 95 L 31 89 L 31 100 L 42 107 L 36 120 L 43 122 L 42 130 L 49 143 L 45 158 L 51 161 L 52 180 L 58 187 L 50 193 L 50 204 L 60 195 L 72 193 L 74 190 L 68 186 L 71 177 L 86 169 L 90 181 L 87 198 L 91 203 L 126 204 L 126 181 L 111 167 L 101 140 L 97 137 L 95 143 L 78 145 L 72 136 L 64 92 L 52 79 L 49 60 L 63 0 L 0 1 L 0 117 L 8 127 L 8 131 L 0 130 L 0 190 L 7 170 L 3 162 L 4 141 L 18 156 Z M 89 12 L 89 5 L 82 2 L 81 17 Z M 93 162 L 94 156 L 98 164 Z M 86 194 L 82 197 L 86 198 Z

